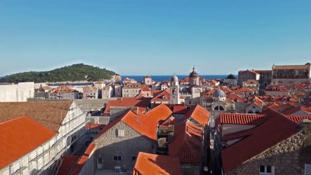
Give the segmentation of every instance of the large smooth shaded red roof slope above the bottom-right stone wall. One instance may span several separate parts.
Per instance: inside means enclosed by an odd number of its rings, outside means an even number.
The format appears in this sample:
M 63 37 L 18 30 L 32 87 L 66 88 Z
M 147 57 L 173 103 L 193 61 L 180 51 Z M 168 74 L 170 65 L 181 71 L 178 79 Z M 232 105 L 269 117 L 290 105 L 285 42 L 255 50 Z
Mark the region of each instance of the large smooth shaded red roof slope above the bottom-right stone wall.
M 255 127 L 249 136 L 221 151 L 224 172 L 228 172 L 277 143 L 295 135 L 297 123 L 281 113 L 268 109 L 265 124 Z M 243 150 L 243 151 L 241 151 Z

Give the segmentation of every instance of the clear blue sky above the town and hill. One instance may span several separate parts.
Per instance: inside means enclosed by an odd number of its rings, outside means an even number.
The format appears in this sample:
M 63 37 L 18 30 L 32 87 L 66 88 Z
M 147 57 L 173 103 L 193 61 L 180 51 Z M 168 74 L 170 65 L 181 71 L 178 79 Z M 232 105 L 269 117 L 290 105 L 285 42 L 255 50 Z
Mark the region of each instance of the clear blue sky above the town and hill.
M 14 1 L 0 76 L 87 63 L 121 75 L 237 74 L 311 61 L 311 1 Z

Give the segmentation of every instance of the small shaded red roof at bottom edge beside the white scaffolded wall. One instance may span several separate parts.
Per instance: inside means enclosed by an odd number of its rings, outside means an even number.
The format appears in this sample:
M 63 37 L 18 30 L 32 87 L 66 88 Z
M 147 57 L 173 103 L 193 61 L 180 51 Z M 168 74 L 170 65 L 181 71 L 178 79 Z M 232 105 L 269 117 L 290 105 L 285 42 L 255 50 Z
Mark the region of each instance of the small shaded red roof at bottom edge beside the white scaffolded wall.
M 59 168 L 57 174 L 63 175 L 63 174 L 69 174 L 70 171 L 74 168 L 74 166 L 77 164 L 80 156 L 63 156 L 61 167 Z

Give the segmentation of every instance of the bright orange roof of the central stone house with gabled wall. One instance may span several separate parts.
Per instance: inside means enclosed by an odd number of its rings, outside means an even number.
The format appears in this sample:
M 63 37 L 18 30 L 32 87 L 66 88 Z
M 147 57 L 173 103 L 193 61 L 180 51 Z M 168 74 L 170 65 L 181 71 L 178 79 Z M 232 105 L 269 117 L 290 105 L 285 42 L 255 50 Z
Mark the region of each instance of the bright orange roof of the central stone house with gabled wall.
M 157 107 L 154 107 L 151 111 L 143 114 L 139 112 L 138 114 L 128 110 L 123 113 L 121 116 L 110 121 L 98 134 L 98 137 L 103 135 L 107 130 L 113 127 L 118 122 L 122 121 L 125 124 L 129 125 L 131 128 L 136 130 L 143 136 L 146 136 L 150 139 L 157 139 L 157 127 L 162 124 L 170 115 L 172 111 L 165 104 L 160 104 Z M 98 138 L 97 137 L 97 138 Z

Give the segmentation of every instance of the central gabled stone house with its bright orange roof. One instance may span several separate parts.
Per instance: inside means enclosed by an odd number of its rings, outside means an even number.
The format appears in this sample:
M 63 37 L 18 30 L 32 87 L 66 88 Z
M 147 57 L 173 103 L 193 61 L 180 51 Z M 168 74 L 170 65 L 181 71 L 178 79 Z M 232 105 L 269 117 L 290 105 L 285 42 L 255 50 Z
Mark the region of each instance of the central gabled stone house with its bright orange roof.
M 156 152 L 158 122 L 166 120 L 171 114 L 164 104 L 147 113 L 127 110 L 101 130 L 93 141 L 96 145 L 93 156 L 87 160 L 93 163 L 86 162 L 81 172 L 83 169 L 94 169 L 98 173 L 106 169 L 131 171 L 139 152 Z

